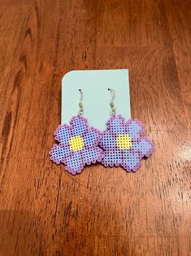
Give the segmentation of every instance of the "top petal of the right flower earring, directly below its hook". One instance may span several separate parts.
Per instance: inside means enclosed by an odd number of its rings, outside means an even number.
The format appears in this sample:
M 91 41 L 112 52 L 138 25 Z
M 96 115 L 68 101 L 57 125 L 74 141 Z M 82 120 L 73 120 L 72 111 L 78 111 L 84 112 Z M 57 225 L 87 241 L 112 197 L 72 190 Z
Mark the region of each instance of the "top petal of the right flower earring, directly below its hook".
M 127 130 L 124 126 L 124 117 L 120 115 L 111 117 L 107 122 L 107 129 L 111 130 L 113 135 L 125 135 Z

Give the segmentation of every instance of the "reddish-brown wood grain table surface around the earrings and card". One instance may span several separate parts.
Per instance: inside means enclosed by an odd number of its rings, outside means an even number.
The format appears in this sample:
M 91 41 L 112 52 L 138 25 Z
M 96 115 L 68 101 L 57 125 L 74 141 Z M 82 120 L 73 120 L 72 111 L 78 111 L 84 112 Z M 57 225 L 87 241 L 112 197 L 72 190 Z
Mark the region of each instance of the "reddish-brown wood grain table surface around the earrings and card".
M 0 255 L 191 255 L 191 2 L 0 2 Z M 48 157 L 72 69 L 129 68 L 136 174 Z

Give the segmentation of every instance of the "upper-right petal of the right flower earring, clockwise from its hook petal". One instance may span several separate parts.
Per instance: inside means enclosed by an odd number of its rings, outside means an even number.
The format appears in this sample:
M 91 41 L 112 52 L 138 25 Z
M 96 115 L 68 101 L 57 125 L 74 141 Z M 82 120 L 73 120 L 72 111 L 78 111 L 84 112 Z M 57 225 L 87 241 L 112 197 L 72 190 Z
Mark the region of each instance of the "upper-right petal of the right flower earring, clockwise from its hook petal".
M 142 132 L 143 132 L 143 125 L 141 124 L 141 121 L 135 120 L 128 120 L 126 123 L 126 126 L 128 128 L 128 135 L 132 137 L 132 139 L 139 139 Z

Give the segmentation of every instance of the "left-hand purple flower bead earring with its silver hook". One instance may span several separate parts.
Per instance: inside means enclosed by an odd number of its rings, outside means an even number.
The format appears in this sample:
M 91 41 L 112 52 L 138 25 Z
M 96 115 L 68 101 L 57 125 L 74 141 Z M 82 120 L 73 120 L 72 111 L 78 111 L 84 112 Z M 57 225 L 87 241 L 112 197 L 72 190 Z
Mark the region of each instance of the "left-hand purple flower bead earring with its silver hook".
M 54 144 L 50 150 L 50 159 L 56 164 L 63 163 L 65 169 L 71 174 L 79 174 L 85 165 L 102 161 L 102 149 L 98 142 L 102 133 L 94 127 L 88 126 L 88 121 L 82 117 L 84 108 L 83 94 L 80 90 L 80 111 L 72 117 L 70 126 L 64 124 L 55 130 L 55 139 L 59 144 Z

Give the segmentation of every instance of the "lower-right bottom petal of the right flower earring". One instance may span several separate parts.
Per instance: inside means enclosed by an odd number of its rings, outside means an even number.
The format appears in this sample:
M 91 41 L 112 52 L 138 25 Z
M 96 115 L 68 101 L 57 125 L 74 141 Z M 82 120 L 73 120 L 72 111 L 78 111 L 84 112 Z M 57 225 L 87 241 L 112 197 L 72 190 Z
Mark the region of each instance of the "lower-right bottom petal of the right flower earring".
M 141 166 L 141 156 L 138 152 L 124 150 L 121 166 L 127 171 L 136 171 Z

